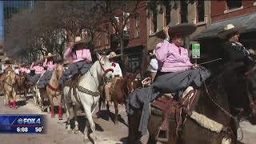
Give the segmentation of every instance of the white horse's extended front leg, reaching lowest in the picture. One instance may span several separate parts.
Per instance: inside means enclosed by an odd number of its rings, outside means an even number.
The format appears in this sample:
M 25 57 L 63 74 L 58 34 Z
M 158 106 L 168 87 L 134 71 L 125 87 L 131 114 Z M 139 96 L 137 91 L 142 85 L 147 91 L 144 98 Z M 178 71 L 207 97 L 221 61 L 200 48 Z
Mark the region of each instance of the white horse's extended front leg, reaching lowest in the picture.
M 93 116 L 91 114 L 91 107 L 87 106 L 85 102 L 82 102 L 82 106 L 84 106 L 84 109 L 85 109 L 85 112 L 86 112 L 86 117 L 88 118 L 88 121 L 90 123 L 90 129 L 93 132 L 94 144 L 97 144 L 96 130 L 95 130 L 94 119 L 93 119 Z

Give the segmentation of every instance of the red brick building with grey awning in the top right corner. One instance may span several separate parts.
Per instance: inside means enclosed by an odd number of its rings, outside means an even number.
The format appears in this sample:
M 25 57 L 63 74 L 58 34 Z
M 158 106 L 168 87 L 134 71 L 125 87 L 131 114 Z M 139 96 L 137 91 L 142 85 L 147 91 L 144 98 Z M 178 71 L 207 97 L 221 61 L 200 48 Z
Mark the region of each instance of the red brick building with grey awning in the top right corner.
M 218 41 L 217 34 L 223 30 L 227 24 L 234 26 L 246 26 L 246 30 L 241 34 L 240 41 L 244 46 L 255 46 L 255 19 L 256 2 L 254 1 L 211 1 L 210 27 L 198 34 L 194 40 L 200 42 Z

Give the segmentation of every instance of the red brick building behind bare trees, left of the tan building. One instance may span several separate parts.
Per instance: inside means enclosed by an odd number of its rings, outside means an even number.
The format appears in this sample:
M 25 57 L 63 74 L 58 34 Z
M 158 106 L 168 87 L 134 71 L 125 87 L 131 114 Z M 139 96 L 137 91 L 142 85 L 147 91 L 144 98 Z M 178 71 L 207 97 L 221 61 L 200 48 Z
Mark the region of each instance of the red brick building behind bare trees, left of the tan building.
M 126 57 L 126 68 L 134 72 L 138 69 L 143 70 L 146 59 L 146 1 L 139 2 L 136 9 L 136 16 L 129 18 L 123 33 L 126 34 L 124 40 L 124 54 Z M 120 11 L 115 18 L 118 20 L 119 26 L 122 26 L 122 18 L 124 15 L 130 14 L 129 11 Z M 104 23 L 99 26 L 102 30 L 107 32 L 97 32 L 94 36 L 94 52 L 114 51 L 120 54 L 120 42 L 115 37 L 114 28 L 111 23 Z

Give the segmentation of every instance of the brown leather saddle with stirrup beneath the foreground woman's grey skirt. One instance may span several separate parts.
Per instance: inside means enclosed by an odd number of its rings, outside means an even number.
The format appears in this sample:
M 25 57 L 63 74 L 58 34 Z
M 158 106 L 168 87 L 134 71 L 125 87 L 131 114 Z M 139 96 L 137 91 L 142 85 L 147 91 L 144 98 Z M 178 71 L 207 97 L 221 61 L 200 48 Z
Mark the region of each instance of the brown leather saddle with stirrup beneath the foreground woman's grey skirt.
M 178 134 L 182 119 L 185 119 L 182 118 L 184 115 L 182 113 L 184 110 L 185 112 L 194 110 L 194 106 L 198 102 L 197 93 L 198 90 L 189 86 L 178 101 L 173 98 L 173 94 L 162 94 L 150 103 L 151 113 L 162 116 L 162 124 L 159 126 L 158 134 L 155 137 L 159 142 L 168 142 L 169 140 L 169 128 L 173 127 L 170 126 L 170 119 L 176 122 L 176 134 Z

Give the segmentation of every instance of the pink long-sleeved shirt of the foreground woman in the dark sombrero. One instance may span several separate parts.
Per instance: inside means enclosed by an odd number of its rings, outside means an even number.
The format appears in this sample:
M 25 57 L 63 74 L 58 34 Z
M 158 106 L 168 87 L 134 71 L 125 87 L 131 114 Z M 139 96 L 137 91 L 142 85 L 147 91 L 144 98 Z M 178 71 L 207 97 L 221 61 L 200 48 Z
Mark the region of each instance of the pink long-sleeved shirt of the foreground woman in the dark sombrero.
M 188 50 L 175 46 L 174 43 L 166 40 L 157 44 L 155 56 L 158 60 L 158 70 L 162 72 L 190 70 L 192 65 L 188 56 Z

